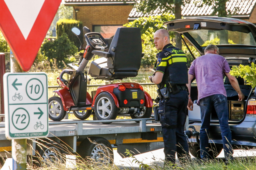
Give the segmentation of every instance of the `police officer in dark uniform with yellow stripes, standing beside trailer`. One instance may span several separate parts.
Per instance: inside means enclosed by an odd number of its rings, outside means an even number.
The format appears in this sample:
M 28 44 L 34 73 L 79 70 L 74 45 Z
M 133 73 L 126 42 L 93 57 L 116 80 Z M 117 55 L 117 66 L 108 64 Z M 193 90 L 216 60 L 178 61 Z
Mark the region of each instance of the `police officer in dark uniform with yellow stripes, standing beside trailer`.
M 184 135 L 188 105 L 187 58 L 182 50 L 170 43 L 170 35 L 165 29 L 156 31 L 154 44 L 161 52 L 157 53 L 155 73 L 149 79 L 158 87 L 158 113 L 162 120 L 165 160 L 175 164 L 176 152 L 178 158 L 189 157 Z

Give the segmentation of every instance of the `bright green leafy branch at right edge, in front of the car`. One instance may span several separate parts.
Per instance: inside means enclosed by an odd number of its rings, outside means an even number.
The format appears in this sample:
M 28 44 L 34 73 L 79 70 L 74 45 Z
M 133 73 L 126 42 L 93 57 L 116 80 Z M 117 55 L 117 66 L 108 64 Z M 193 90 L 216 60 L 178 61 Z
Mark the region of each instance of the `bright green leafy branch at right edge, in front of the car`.
M 256 67 L 254 63 L 252 63 L 251 67 L 249 65 L 244 66 L 242 64 L 240 64 L 238 67 L 233 66 L 229 73 L 232 76 L 244 78 L 247 85 L 251 85 L 252 88 L 256 86 Z

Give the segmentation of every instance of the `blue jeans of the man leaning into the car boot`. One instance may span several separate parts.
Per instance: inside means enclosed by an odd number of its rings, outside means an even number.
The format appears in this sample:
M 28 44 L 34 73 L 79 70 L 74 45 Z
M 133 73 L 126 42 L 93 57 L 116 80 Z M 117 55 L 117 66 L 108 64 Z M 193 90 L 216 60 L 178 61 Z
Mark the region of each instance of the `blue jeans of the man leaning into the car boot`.
M 202 126 L 200 129 L 200 150 L 201 158 L 209 158 L 209 129 L 211 121 L 212 107 L 215 108 L 219 118 L 221 137 L 223 141 L 224 155 L 226 159 L 233 159 L 233 149 L 231 145 L 231 131 L 228 125 L 228 101 L 227 97 L 222 94 L 215 94 L 212 96 L 200 99 L 200 111 Z M 210 147 L 211 148 L 211 147 Z

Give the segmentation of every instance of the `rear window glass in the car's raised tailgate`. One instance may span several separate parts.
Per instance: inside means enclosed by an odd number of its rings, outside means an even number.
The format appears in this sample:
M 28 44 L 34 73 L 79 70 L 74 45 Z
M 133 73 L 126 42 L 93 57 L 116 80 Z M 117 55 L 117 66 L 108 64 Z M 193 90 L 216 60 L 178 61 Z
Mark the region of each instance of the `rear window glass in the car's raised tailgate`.
M 240 44 L 256 46 L 252 33 L 228 30 L 195 30 L 188 33 L 202 47 L 206 47 L 209 44 Z

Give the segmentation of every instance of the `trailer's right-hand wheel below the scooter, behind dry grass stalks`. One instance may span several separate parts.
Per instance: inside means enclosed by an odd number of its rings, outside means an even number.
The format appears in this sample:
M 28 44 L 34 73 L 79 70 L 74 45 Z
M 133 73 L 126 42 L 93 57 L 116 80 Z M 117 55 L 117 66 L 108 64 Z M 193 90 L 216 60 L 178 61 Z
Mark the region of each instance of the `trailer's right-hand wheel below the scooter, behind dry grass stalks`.
M 95 163 L 112 165 L 114 162 L 113 148 L 108 140 L 103 137 L 84 139 L 79 145 L 77 153 L 82 158 Z

